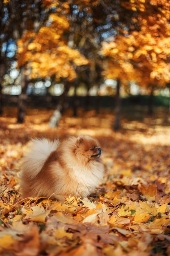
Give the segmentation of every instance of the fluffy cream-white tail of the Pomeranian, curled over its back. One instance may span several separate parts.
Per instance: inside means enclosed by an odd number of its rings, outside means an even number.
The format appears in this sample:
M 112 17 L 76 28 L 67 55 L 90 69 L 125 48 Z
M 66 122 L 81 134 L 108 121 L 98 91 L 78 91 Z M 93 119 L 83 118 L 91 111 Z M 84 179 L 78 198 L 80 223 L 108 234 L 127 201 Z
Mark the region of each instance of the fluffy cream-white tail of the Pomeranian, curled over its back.
M 57 149 L 59 140 L 32 139 L 29 142 L 29 151 L 26 152 L 22 162 L 22 172 L 33 179 L 40 172 L 47 157 Z

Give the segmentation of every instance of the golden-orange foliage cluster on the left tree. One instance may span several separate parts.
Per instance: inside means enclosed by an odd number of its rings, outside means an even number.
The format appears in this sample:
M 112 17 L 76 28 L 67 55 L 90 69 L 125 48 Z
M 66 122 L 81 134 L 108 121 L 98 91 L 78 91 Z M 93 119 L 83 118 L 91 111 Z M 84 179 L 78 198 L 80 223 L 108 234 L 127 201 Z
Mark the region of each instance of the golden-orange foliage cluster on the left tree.
M 51 22 L 50 28 L 44 24 L 38 33 L 28 29 L 18 40 L 18 67 L 31 68 L 30 79 L 55 76 L 57 81 L 61 78 L 73 80 L 76 73 L 72 63 L 87 65 L 88 60 L 77 49 L 68 47 L 64 40 L 63 34 L 69 31 L 65 15 L 52 13 L 48 22 Z

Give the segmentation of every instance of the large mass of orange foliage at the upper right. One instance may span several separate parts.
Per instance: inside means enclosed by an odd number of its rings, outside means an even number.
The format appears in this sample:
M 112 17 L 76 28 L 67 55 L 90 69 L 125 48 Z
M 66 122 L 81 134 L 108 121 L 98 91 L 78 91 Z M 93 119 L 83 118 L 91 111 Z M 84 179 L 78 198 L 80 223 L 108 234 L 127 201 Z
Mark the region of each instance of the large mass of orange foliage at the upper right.
M 141 87 L 166 86 L 170 82 L 170 4 L 141 0 L 121 1 L 121 5 L 138 15 L 131 17 L 131 31 L 121 30 L 112 42 L 103 43 L 102 54 L 109 57 L 103 74 L 121 79 L 124 85 L 135 81 Z

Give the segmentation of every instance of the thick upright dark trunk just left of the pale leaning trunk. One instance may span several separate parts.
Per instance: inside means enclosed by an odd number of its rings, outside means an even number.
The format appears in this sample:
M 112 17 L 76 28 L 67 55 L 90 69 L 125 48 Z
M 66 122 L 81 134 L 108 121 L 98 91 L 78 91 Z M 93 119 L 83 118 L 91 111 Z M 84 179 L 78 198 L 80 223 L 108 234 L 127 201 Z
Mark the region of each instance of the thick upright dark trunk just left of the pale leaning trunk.
M 29 84 L 29 80 L 25 74 L 25 69 L 23 66 L 21 67 L 20 72 L 21 72 L 22 92 L 18 98 L 18 120 L 17 120 L 17 122 L 22 124 L 22 123 L 24 123 L 24 118 L 25 118 L 25 114 L 26 114 L 26 101 L 27 101 L 26 90 L 27 90 L 27 87 Z

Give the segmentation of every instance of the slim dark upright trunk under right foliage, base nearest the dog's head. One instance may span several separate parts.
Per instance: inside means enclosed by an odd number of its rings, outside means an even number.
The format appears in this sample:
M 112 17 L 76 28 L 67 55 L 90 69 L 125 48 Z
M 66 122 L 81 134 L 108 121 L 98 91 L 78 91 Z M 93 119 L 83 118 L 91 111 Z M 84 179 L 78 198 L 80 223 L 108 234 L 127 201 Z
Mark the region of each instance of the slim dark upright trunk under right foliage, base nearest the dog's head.
M 115 106 L 115 124 L 114 130 L 119 130 L 120 125 L 120 112 L 121 112 L 121 98 L 120 98 L 120 80 L 117 80 L 117 92 L 116 92 L 116 106 Z

